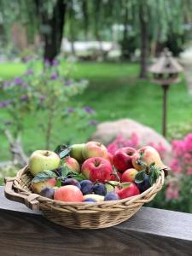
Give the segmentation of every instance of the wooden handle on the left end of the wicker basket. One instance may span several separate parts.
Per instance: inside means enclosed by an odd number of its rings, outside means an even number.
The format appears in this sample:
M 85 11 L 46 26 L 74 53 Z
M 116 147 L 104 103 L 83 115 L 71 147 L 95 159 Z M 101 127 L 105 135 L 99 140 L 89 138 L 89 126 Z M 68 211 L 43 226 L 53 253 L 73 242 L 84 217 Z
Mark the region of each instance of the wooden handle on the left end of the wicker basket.
M 25 204 L 26 207 L 29 207 L 32 210 L 39 209 L 39 201 L 37 198 L 38 194 L 24 195 L 20 193 L 15 193 L 14 183 L 15 177 L 5 177 L 5 187 L 4 187 L 4 195 L 7 199 L 11 201 L 17 201 L 22 204 Z

